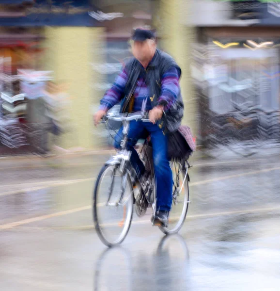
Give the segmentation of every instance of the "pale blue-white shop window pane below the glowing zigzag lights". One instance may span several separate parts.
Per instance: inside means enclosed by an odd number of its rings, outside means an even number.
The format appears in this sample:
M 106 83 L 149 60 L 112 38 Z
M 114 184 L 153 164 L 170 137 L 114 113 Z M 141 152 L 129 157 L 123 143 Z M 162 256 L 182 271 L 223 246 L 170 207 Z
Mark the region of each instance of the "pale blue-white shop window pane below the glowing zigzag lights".
M 277 49 L 219 49 L 217 54 L 219 65 L 209 69 L 213 71 L 209 80 L 211 111 L 227 113 L 235 105 L 259 106 L 264 111 L 280 108 Z

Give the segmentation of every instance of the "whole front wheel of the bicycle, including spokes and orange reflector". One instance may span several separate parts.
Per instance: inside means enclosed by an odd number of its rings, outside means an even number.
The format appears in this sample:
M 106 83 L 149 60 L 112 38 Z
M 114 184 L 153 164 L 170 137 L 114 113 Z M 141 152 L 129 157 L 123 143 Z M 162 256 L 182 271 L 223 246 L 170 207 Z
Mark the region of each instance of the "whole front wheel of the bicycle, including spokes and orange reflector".
M 124 241 L 133 214 L 133 185 L 118 165 L 105 165 L 93 192 L 93 222 L 100 240 L 107 246 Z

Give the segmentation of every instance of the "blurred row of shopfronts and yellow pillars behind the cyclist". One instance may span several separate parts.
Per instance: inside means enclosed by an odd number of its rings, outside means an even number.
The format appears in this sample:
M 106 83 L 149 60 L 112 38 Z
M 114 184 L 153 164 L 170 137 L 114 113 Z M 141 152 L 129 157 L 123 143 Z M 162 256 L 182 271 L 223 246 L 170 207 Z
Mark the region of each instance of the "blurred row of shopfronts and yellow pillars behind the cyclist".
M 182 68 L 184 123 L 199 144 L 228 142 L 229 135 L 233 142 L 277 139 L 279 11 L 257 0 L 1 0 L 1 92 L 22 93 L 21 83 L 7 77 L 18 69 L 52 72 L 52 90 L 45 84 L 44 94 L 68 102 L 59 146 L 102 148 L 107 132 L 94 129 L 93 113 L 130 56 L 131 30 L 150 25 L 159 48 Z M 10 113 L 6 106 L 4 115 L 49 121 L 45 101 L 35 99 L 21 100 L 26 108 L 14 102 Z

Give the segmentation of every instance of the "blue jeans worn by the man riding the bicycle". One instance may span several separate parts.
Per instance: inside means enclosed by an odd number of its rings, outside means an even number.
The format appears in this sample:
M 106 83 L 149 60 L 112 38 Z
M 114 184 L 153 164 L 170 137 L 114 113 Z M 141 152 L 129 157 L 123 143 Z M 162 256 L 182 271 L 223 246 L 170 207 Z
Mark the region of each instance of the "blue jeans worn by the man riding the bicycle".
M 115 147 L 120 148 L 123 139 L 123 127 L 115 138 Z M 153 160 L 156 175 L 156 210 L 170 210 L 172 204 L 172 172 L 167 155 L 167 138 L 156 124 L 131 121 L 128 131 L 127 149 L 131 151 L 131 164 L 138 174 L 143 174 L 145 167 L 134 146 L 137 141 L 151 135 Z

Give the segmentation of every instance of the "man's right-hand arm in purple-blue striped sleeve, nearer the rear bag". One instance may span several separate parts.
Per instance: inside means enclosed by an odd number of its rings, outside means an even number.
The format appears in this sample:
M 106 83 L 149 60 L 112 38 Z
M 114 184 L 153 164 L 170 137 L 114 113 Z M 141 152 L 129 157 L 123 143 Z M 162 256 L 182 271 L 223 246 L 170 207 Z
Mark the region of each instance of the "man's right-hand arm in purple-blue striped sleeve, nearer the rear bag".
M 168 111 L 171 105 L 176 101 L 180 92 L 179 74 L 176 67 L 171 67 L 161 78 L 161 95 L 158 98 L 158 105 Z

